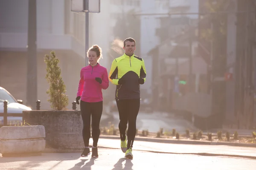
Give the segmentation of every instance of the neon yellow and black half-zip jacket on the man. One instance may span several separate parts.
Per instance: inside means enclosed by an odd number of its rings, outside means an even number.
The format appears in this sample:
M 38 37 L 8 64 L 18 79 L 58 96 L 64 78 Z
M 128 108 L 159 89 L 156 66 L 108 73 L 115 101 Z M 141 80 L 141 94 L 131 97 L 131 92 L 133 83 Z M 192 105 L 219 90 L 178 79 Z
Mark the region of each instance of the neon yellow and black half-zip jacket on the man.
M 122 85 L 118 84 L 119 79 Z M 109 80 L 116 85 L 116 99 L 140 99 L 139 79 L 146 80 L 144 60 L 126 54 L 113 60 L 109 72 Z

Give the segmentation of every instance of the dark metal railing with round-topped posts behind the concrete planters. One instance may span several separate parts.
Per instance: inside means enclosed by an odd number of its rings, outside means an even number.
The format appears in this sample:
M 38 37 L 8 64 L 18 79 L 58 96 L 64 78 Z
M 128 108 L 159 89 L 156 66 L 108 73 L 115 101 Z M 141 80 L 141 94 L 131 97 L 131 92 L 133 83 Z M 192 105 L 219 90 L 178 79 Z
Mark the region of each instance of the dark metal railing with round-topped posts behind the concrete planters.
M 40 100 L 36 101 L 36 110 L 40 110 L 40 103 Z M 0 116 L 3 116 L 3 126 L 7 126 L 7 117 L 22 117 L 22 122 L 24 122 L 23 113 L 7 113 L 7 104 L 8 101 L 5 100 L 3 102 L 3 113 L 0 113 Z M 72 109 L 76 110 L 76 101 L 72 102 Z

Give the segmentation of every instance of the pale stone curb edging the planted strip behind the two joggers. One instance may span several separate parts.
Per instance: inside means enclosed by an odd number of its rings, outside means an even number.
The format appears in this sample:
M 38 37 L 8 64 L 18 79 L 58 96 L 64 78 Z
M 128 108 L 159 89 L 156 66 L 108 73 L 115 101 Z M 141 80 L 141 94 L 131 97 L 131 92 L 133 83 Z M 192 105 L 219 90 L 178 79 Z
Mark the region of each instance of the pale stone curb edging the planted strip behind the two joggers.
M 100 135 L 101 139 L 120 139 L 119 136 L 113 135 Z M 157 142 L 157 143 L 170 143 L 170 144 L 205 144 L 205 145 L 227 145 L 227 146 L 238 146 L 238 147 L 256 147 L 256 144 L 247 143 L 236 143 L 236 142 L 211 142 L 211 141 L 200 141 L 200 140 L 186 140 L 186 139 L 163 139 L 163 138 L 152 138 L 135 136 L 137 141 L 145 142 Z

